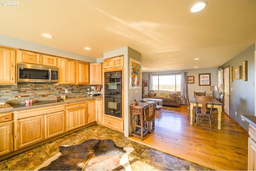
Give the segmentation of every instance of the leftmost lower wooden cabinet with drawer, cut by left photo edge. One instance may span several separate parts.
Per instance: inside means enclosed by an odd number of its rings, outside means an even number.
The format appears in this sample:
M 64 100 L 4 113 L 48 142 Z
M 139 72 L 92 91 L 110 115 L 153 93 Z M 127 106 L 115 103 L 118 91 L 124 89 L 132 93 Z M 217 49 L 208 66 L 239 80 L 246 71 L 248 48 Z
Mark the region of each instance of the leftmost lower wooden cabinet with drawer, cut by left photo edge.
M 0 113 L 0 155 L 12 151 L 12 112 Z

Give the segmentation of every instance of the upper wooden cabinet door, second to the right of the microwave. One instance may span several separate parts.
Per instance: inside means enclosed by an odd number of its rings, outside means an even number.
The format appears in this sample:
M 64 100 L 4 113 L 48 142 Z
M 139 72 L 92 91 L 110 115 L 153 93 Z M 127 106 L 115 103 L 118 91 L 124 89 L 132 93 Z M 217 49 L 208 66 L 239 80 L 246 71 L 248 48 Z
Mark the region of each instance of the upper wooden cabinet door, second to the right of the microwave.
M 89 84 L 89 63 L 76 61 L 76 84 Z

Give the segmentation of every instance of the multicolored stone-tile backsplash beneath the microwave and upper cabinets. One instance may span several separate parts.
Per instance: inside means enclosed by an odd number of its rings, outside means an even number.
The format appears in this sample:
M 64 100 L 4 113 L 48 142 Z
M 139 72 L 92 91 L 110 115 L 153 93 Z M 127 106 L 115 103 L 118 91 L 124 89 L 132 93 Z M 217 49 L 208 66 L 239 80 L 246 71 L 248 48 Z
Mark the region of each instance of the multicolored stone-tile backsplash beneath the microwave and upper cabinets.
M 58 85 L 29 83 L 18 85 L 0 85 L 0 100 L 9 104 L 25 103 L 25 100 L 33 101 L 55 100 L 55 96 L 65 95 L 66 98 L 86 97 L 87 89 L 92 85 Z M 68 89 L 68 93 L 65 93 Z

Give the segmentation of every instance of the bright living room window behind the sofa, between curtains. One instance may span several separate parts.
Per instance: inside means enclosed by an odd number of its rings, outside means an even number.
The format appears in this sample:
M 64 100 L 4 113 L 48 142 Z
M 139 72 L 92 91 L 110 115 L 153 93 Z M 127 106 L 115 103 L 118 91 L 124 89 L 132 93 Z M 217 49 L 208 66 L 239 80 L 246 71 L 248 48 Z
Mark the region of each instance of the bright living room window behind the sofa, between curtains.
M 153 75 L 153 89 L 180 91 L 181 74 Z

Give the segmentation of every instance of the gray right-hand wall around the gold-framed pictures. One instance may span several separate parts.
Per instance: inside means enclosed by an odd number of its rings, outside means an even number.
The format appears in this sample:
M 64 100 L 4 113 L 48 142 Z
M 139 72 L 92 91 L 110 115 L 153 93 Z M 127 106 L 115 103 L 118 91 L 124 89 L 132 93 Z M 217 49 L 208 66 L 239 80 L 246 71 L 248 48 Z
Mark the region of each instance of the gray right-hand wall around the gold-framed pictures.
M 236 66 L 241 66 L 243 61 L 248 61 L 248 81 L 242 81 L 242 79 L 240 79 L 230 82 L 230 89 L 232 88 L 232 91 L 230 90 L 230 117 L 247 131 L 249 124 L 246 121 L 242 121 L 241 115 L 255 115 L 254 51 L 255 43 L 222 65 L 223 68 L 227 66 L 234 68 Z M 237 113 L 236 115 L 235 112 Z

